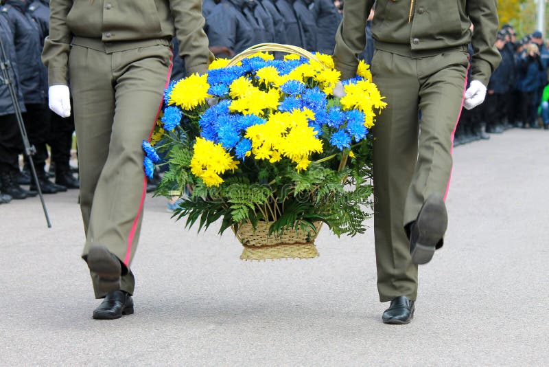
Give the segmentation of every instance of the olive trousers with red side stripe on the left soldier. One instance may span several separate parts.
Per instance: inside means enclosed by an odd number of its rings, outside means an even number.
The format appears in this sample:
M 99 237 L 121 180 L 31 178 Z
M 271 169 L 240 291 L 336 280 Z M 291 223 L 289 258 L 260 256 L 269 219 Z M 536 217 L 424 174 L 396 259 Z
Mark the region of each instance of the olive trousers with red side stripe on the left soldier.
M 107 247 L 128 269 L 121 289 L 130 294 L 146 188 L 141 144 L 158 117 L 172 65 L 167 44 L 132 45 L 119 52 L 73 45 L 69 56 L 86 235 L 82 258 L 91 245 Z M 91 278 L 95 297 L 104 298 L 96 274 Z

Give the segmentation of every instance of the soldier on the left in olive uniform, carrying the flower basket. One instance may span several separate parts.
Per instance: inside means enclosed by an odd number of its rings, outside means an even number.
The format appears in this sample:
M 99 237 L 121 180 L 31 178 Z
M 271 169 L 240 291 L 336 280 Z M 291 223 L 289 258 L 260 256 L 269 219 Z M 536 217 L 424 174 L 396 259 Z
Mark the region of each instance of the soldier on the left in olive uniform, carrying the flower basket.
M 96 298 L 93 318 L 133 313 L 130 263 L 139 240 L 148 140 L 170 80 L 172 37 L 187 72 L 205 73 L 213 55 L 200 0 L 51 0 L 43 62 L 49 107 L 71 113 L 80 168 L 86 243 L 82 258 Z

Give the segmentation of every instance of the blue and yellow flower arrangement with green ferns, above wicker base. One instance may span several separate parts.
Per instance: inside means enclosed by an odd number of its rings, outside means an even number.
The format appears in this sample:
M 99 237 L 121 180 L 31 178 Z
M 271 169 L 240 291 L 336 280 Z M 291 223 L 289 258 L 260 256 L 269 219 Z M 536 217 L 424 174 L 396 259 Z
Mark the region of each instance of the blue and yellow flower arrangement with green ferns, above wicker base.
M 361 62 L 336 98 L 331 56 L 292 49 L 275 60 L 258 50 L 167 87 L 152 140 L 143 142 L 147 175 L 168 166 L 156 195 L 183 195 L 174 216 L 189 227 L 198 221 L 199 231 L 221 219 L 220 234 L 261 223 L 274 238 L 314 238 L 318 223 L 338 236 L 364 232 L 369 129 L 386 105 L 369 65 Z

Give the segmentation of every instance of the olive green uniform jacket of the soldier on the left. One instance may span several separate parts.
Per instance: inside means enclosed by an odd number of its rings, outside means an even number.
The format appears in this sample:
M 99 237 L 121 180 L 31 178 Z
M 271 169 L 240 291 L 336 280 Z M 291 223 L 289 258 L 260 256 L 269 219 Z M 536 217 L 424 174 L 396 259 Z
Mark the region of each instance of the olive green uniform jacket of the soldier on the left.
M 107 52 L 118 52 L 143 47 L 142 41 L 168 44 L 176 34 L 187 72 L 205 73 L 213 55 L 201 8 L 200 0 L 51 0 L 42 56 L 49 85 L 67 84 L 70 45 L 93 48 L 85 40 L 102 41 Z

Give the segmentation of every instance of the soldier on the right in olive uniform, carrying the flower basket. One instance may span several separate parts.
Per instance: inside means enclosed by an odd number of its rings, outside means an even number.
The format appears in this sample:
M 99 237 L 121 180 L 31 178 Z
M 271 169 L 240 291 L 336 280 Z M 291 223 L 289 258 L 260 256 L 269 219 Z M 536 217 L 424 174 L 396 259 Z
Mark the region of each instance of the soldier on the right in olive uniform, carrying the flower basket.
M 334 51 L 342 79 L 356 74 L 374 2 L 344 3 Z M 391 301 L 383 322 L 406 324 L 417 298 L 417 265 L 443 243 L 461 107 L 482 103 L 500 63 L 496 0 L 377 0 L 371 30 L 373 82 L 388 103 L 373 129 L 377 289 L 381 302 Z

